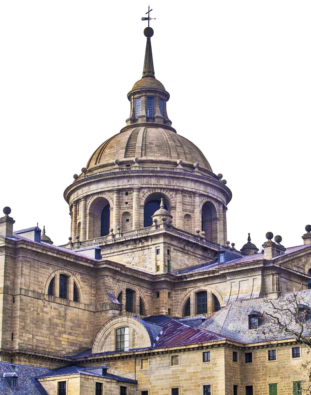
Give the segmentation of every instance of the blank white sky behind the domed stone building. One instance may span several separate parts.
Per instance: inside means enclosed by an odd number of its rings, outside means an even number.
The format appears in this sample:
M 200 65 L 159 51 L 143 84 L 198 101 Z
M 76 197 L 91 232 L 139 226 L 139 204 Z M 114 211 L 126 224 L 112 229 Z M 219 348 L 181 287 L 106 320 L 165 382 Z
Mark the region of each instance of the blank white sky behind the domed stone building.
M 251 232 L 301 245 L 310 212 L 311 2 L 161 1 L 155 77 L 169 118 L 222 173 L 228 239 Z M 0 208 L 15 230 L 69 237 L 63 198 L 96 148 L 129 116 L 142 75 L 148 2 L 0 2 Z

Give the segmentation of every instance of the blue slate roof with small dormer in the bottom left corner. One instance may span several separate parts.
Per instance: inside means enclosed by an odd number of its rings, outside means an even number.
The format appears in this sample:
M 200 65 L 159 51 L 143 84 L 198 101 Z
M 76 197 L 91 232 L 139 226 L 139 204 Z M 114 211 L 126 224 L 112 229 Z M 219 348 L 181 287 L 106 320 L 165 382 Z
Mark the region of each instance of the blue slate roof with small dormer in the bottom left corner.
M 12 366 L 16 366 L 18 372 L 15 373 Z M 48 369 L 39 369 L 27 365 L 16 365 L 12 363 L 0 362 L 0 394 L 6 395 L 48 395 L 40 383 L 34 380 L 34 377 L 39 374 L 46 374 Z M 17 389 L 12 389 L 9 386 L 4 374 L 14 373 L 17 379 Z

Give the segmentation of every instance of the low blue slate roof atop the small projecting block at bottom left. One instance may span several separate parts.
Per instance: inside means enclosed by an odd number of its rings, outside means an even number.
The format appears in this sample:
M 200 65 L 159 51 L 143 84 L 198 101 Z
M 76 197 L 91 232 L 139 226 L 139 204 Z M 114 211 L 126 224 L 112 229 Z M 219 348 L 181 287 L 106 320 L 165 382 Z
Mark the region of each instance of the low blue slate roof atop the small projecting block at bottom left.
M 41 376 L 37 376 L 36 378 L 44 378 L 44 377 L 57 377 L 57 376 L 68 376 L 71 374 L 88 374 L 89 376 L 96 377 L 107 377 L 116 381 L 126 382 L 137 384 L 137 380 L 132 380 L 130 378 L 117 376 L 116 374 L 106 373 L 105 376 L 102 374 L 103 367 L 91 367 L 91 368 L 81 368 L 76 365 L 64 366 L 57 369 L 53 369 L 50 372 L 42 374 Z

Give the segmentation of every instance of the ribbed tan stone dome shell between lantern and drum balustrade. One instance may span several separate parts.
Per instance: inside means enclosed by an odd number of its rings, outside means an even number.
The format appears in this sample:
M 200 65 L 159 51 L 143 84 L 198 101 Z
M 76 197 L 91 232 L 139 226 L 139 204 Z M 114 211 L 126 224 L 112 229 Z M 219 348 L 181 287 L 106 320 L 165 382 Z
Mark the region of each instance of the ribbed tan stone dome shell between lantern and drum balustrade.
M 184 164 L 193 165 L 198 162 L 200 167 L 212 172 L 210 164 L 200 149 L 168 128 L 157 126 L 141 126 L 124 130 L 106 140 L 87 164 L 87 169 L 106 164 L 112 164 L 118 160 L 156 160 L 172 161 L 176 164 L 182 159 Z

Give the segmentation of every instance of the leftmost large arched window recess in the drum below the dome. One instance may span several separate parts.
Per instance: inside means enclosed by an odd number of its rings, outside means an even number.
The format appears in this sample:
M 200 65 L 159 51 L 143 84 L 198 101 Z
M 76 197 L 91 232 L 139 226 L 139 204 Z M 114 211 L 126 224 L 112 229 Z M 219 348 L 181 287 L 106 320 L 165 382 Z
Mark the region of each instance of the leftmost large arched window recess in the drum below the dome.
M 103 196 L 97 196 L 90 201 L 87 208 L 88 239 L 105 236 L 102 233 L 109 234 L 112 226 L 111 207 L 111 202 Z

